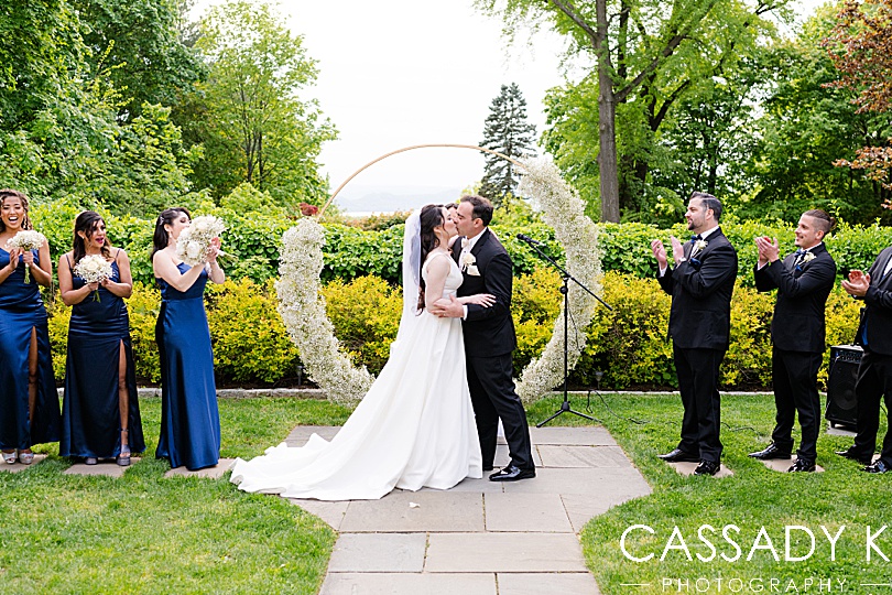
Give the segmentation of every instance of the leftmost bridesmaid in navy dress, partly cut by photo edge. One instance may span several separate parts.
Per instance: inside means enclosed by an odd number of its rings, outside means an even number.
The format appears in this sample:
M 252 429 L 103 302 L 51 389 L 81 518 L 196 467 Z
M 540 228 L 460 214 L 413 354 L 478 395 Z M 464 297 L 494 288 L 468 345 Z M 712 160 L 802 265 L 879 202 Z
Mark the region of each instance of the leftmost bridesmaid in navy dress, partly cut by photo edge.
M 25 195 L 0 190 L 0 450 L 10 465 L 17 458 L 33 463 L 31 446 L 57 441 L 59 424 L 46 309 L 37 289 L 53 279 L 50 246 L 44 241 L 39 250 L 23 252 L 8 244 L 26 229 Z

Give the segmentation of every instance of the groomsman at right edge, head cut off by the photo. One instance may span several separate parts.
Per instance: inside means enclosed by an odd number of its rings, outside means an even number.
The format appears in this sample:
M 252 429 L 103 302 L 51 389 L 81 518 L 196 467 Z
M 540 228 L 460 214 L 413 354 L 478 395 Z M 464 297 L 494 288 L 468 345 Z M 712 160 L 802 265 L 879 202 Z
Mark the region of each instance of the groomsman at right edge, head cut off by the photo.
M 858 431 L 855 444 L 836 454 L 866 465 L 868 473 L 892 470 L 892 247 L 884 248 L 870 270 L 851 271 L 842 289 L 864 301 L 857 340 L 864 354 L 855 382 Z M 880 458 L 871 463 L 880 429 L 880 399 L 889 422 Z

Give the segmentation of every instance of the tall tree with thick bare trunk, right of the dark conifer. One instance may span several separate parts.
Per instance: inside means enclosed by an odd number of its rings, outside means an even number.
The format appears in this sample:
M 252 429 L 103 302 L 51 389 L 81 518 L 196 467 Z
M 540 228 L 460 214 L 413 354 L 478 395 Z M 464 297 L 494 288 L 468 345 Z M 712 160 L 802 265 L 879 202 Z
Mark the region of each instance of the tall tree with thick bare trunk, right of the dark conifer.
M 690 88 L 721 75 L 741 53 L 771 33 L 770 18 L 788 17 L 785 7 L 790 1 L 477 0 L 476 4 L 502 15 L 507 31 L 546 24 L 572 40 L 572 54 L 594 63 L 589 75 L 572 89 L 580 99 L 589 91 L 585 99 L 552 112 L 562 119 L 551 123 L 563 130 L 551 134 L 550 142 L 575 142 L 587 136 L 586 144 L 598 145 L 601 219 L 618 221 L 621 207 L 634 208 L 634 188 L 623 186 L 620 174 L 618 118 L 628 118 L 633 134 L 648 130 L 651 137 L 655 134 L 672 106 Z M 624 110 L 630 102 L 639 105 Z M 632 144 L 640 145 L 642 140 L 646 139 L 633 138 Z M 561 151 L 565 158 L 590 153 L 579 148 Z M 646 156 L 646 151 L 632 154 L 626 164 L 641 183 L 650 167 Z M 573 169 L 558 164 L 565 171 Z M 573 165 L 577 173 L 591 170 L 587 164 Z

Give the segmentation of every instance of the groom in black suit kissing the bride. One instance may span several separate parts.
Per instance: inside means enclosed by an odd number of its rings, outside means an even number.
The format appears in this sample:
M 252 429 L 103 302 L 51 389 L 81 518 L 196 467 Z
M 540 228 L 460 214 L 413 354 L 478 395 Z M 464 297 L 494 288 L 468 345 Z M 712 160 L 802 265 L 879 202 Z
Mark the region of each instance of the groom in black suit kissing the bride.
M 461 318 L 468 387 L 483 455 L 483 470 L 492 470 L 499 418 L 504 428 L 511 463 L 489 476 L 491 482 L 516 482 L 536 476 L 530 445 L 526 412 L 511 379 L 511 353 L 516 347 L 511 318 L 511 258 L 489 230 L 492 204 L 481 196 L 463 196 L 452 215 L 464 236 L 453 248 L 464 277 L 458 295 L 490 293 L 492 306 L 463 305 L 453 299 L 445 307 L 432 307 L 437 316 Z

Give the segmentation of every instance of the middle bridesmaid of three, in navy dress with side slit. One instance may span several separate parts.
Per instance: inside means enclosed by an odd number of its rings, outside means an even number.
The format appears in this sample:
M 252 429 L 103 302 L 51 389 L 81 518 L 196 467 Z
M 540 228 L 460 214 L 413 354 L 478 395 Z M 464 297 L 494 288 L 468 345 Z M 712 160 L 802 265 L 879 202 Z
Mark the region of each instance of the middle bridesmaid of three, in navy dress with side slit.
M 85 256 L 111 262 L 111 278 L 87 283 L 78 277 L 75 267 Z M 73 249 L 58 261 L 58 286 L 62 301 L 73 306 L 58 454 L 87 465 L 115 458 L 126 467 L 131 453 L 145 450 L 124 304 L 133 280 L 127 252 L 109 245 L 98 213 L 77 216 Z

